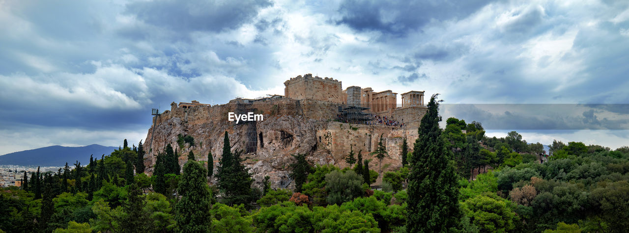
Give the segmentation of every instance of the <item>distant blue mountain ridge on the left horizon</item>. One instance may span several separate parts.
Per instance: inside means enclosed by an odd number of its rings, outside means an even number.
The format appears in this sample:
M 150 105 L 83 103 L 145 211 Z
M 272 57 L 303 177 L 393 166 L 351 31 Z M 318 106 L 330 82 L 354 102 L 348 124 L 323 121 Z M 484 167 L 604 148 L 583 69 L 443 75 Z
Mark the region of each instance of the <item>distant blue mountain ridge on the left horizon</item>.
M 47 146 L 4 154 L 0 156 L 0 165 L 64 166 L 65 162 L 71 165 L 77 160 L 81 162 L 81 165 L 87 165 L 90 154 L 100 159 L 101 155 L 111 154 L 114 149 L 118 148 L 99 144 L 79 147 Z

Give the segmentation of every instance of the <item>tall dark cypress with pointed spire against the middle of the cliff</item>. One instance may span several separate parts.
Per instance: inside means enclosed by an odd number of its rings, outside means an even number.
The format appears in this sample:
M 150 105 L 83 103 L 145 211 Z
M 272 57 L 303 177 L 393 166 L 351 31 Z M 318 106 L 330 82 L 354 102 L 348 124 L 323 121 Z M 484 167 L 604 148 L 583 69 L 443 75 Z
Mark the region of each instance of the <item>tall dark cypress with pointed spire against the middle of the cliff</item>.
M 223 192 L 223 202 L 228 205 L 248 204 L 253 180 L 247 168 L 242 165 L 240 151 L 231 153 L 230 138 L 225 131 L 223 156 L 218 166 L 218 188 Z

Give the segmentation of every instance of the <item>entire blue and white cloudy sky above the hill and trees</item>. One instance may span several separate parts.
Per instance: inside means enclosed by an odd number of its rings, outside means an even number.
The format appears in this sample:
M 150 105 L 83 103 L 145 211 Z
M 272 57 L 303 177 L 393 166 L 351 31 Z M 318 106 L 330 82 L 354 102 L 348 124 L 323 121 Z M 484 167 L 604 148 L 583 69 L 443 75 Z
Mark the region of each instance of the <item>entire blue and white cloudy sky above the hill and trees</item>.
M 444 104 L 620 104 L 547 117 L 601 127 L 522 134 L 629 144 L 627 117 L 608 118 L 629 103 L 629 1 L 0 0 L 0 31 L 0 154 L 137 144 L 152 107 L 283 94 L 305 73 Z M 442 112 L 517 112 L 460 109 Z

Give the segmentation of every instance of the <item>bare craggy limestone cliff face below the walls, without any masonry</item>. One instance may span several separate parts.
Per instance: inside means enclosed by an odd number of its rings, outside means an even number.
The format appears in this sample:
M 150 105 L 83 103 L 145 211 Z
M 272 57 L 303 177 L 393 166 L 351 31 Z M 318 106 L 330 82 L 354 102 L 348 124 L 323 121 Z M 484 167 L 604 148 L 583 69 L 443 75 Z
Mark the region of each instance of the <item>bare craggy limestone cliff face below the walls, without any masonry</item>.
M 159 151 L 164 151 L 167 144 L 180 154 L 179 164 L 186 163 L 187 154 L 192 151 L 197 161 L 213 161 L 214 172 L 223 152 L 223 137 L 228 132 L 232 151 L 246 151 L 250 137 L 247 136 L 248 124 L 188 124 L 181 118 L 172 117 L 149 129 L 145 145 L 147 156 L 145 165 L 147 173 L 153 172 L 155 158 Z M 255 122 L 255 152 L 243 153 L 245 165 L 253 174 L 257 186 L 262 185 L 264 176 L 269 175 L 272 187 L 279 187 L 279 181 L 289 180 L 289 165 L 295 160 L 291 154 L 308 154 L 308 160 L 315 165 L 334 164 L 330 151 L 318 148 L 316 131 L 325 124 L 302 116 L 268 116 L 264 121 Z M 154 131 L 153 131 L 154 130 Z M 154 132 L 154 133 L 153 133 Z M 194 145 L 177 144 L 178 135 L 189 135 L 194 138 Z M 211 151 L 212 158 L 208 158 Z M 207 165 L 208 163 L 206 163 Z M 213 177 L 210 182 L 216 182 Z

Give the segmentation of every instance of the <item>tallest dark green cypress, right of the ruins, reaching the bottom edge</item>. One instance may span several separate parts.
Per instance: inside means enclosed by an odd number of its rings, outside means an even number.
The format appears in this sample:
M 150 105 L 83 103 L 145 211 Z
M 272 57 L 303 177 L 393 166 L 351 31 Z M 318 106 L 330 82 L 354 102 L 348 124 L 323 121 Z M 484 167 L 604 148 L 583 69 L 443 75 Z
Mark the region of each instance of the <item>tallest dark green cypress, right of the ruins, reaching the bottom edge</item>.
M 408 232 L 444 232 L 459 225 L 459 187 L 452 154 L 439 128 L 437 94 L 421 119 L 419 138 L 410 158 Z

